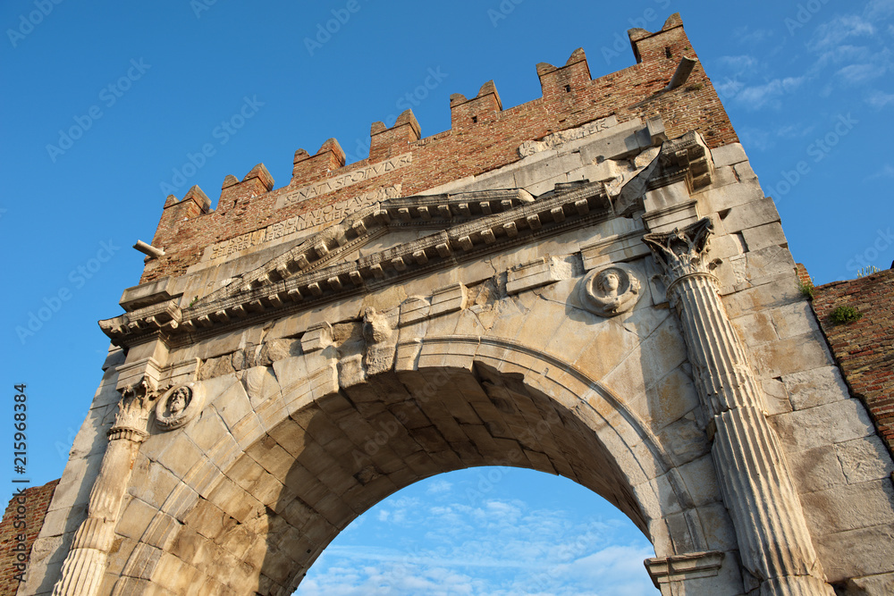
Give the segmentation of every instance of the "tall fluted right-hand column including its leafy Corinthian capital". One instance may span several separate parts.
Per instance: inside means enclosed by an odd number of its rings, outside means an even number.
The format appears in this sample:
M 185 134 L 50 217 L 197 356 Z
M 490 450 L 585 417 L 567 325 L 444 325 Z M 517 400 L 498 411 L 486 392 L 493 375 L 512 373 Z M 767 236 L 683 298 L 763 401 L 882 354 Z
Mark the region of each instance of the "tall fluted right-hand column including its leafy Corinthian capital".
M 763 414 L 763 394 L 710 273 L 710 233 L 711 222 L 703 219 L 644 240 L 662 267 L 704 416 L 714 429 L 714 467 L 742 565 L 762 595 L 831 596 L 779 440 Z

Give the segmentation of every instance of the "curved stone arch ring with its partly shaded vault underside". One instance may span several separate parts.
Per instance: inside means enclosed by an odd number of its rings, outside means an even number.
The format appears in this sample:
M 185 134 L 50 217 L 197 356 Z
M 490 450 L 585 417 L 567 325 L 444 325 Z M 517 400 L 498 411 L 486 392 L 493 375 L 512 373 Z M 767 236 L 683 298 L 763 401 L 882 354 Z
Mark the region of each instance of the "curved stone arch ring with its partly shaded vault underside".
M 249 369 L 241 382 L 208 382 L 216 399 L 184 432 L 207 449 L 142 533 L 164 534 L 164 543 L 134 548 L 112 593 L 145 583 L 178 593 L 187 581 L 210 593 L 240 585 L 246 593 L 289 594 L 367 508 L 410 483 L 471 466 L 565 475 L 620 508 L 661 558 L 712 547 L 685 480 L 620 399 L 535 349 L 485 339 L 470 353 L 469 340 L 412 342 L 420 352 L 436 349 L 441 365 L 347 387 L 333 366 L 334 347 L 329 357 Z M 234 412 L 244 415 L 233 424 Z M 247 447 L 233 457 L 230 435 L 208 441 L 215 425 L 244 427 L 244 436 L 236 430 L 232 438 Z M 156 454 L 151 441 L 143 453 L 162 465 L 170 457 Z M 157 558 L 147 557 L 160 547 Z M 715 575 L 721 557 L 708 566 Z

